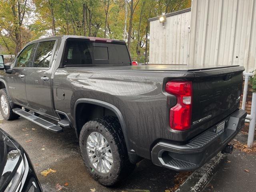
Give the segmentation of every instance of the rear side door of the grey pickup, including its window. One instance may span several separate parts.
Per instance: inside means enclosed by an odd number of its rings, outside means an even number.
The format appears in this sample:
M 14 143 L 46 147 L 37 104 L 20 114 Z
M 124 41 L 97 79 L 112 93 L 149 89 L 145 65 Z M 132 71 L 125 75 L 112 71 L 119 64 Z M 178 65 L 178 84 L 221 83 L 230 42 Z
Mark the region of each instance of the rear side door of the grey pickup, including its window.
M 27 69 L 26 94 L 31 108 L 54 115 L 51 98 L 52 51 L 55 40 L 39 42 L 32 67 Z

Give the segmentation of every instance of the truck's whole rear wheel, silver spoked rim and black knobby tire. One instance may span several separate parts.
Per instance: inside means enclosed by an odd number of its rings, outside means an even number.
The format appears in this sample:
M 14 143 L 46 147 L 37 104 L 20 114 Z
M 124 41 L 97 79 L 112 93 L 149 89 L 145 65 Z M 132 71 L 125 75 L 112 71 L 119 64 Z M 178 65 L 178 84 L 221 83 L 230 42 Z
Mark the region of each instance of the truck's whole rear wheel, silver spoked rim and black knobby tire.
M 104 116 L 84 124 L 79 137 L 82 158 L 90 175 L 112 186 L 132 172 L 124 136 L 117 118 Z

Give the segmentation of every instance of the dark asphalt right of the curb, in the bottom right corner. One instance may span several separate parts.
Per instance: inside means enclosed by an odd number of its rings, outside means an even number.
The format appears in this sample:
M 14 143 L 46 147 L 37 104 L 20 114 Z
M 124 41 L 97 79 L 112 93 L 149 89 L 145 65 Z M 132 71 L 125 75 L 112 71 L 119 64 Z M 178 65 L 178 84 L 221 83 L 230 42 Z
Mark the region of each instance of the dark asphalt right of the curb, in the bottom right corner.
M 246 144 L 248 134 L 241 132 L 235 140 Z M 256 140 L 256 136 L 254 137 Z M 256 192 L 256 154 L 234 149 L 205 192 Z

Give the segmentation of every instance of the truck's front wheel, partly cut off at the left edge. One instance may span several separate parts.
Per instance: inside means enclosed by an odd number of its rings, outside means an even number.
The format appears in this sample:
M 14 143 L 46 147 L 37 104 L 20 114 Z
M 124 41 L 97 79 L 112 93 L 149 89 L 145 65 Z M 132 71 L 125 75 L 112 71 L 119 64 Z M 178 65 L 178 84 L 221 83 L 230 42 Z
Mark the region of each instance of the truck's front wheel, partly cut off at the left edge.
M 12 111 L 12 107 L 10 105 L 8 94 L 5 88 L 0 89 L 0 102 L 0 112 L 5 120 L 14 120 L 20 117 Z

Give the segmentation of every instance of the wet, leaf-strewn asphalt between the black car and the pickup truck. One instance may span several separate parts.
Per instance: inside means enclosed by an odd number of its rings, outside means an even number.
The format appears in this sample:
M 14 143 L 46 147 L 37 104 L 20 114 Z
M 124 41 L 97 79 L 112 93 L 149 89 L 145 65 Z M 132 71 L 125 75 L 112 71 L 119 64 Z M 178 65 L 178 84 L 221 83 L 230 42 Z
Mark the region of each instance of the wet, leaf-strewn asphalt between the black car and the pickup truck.
M 73 129 L 64 128 L 64 132 L 54 134 L 24 118 L 13 121 L 0 118 L 0 127 L 28 153 L 44 192 L 164 192 L 174 185 L 177 172 L 142 160 L 118 186 L 102 186 L 87 172 Z M 48 168 L 56 172 L 43 176 L 41 172 Z

